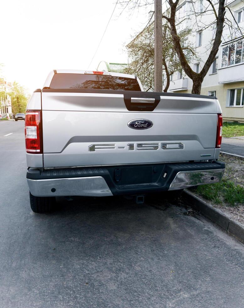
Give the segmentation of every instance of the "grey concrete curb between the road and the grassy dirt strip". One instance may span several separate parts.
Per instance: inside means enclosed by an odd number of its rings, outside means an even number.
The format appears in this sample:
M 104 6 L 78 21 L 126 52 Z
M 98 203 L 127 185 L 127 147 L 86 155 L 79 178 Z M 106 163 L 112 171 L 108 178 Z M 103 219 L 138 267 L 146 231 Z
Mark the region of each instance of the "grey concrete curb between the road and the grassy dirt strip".
M 207 204 L 190 191 L 184 190 L 182 197 L 189 206 L 198 210 L 204 217 L 211 220 L 226 233 L 234 236 L 241 243 L 244 244 L 244 226 L 235 220 L 231 219 L 224 212 L 215 209 L 213 206 Z

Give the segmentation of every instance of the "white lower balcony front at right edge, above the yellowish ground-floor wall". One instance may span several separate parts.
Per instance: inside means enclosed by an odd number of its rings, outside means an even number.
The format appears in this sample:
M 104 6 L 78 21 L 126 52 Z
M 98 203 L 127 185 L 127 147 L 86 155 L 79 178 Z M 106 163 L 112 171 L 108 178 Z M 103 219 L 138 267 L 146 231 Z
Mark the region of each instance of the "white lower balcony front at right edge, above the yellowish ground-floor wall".
M 244 63 L 218 69 L 219 84 L 244 81 Z

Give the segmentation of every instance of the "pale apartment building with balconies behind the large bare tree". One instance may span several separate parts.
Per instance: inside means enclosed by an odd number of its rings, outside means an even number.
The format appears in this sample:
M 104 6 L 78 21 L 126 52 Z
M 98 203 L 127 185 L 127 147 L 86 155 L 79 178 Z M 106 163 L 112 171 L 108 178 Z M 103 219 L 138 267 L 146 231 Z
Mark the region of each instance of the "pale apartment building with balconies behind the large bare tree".
M 177 10 L 179 20 L 178 30 L 184 27 L 193 29 L 188 41 L 194 46 L 200 60 L 192 60 L 191 68 L 195 72 L 201 71 L 210 52 L 211 41 L 215 36 L 214 14 L 204 13 L 209 3 L 206 0 L 196 2 L 195 11 L 201 15 L 202 23 L 197 25 L 196 14 L 190 14 L 190 2 L 181 1 Z M 231 22 L 231 27 L 225 25 L 222 43 L 216 55 L 215 61 L 211 65 L 204 78 L 201 94 L 216 96 L 220 102 L 223 119 L 227 121 L 244 122 L 244 37 L 240 30 L 244 28 L 244 2 L 242 0 L 229 1 L 226 17 Z M 197 26 L 196 26 L 197 25 Z M 181 29 L 180 29 L 181 28 Z M 244 31 L 243 31 L 244 33 Z M 193 82 L 183 71 L 176 72 L 171 76 L 170 92 L 191 93 Z

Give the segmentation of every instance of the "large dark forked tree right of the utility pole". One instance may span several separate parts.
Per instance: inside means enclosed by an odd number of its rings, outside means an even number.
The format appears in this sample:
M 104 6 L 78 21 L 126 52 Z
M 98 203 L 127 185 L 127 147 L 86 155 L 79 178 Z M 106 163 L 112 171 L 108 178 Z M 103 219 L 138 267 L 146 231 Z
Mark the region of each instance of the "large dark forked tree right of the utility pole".
M 187 18 L 194 18 L 194 27 L 191 24 L 192 31 L 202 31 L 205 29 L 214 29 L 213 40 L 211 40 L 206 46 L 210 50 L 205 63 L 199 73 L 194 72 L 190 67 L 190 63 L 185 54 L 185 47 L 181 41 L 181 31 L 186 30 L 182 29 L 183 19 L 177 17 L 178 4 L 180 0 L 167 0 L 166 6 L 167 9 L 162 15 L 162 18 L 168 22 L 170 33 L 172 36 L 172 43 L 175 49 L 175 52 L 178 55 L 179 62 L 190 79 L 193 81 L 192 93 L 200 94 L 201 85 L 206 76 L 208 70 L 210 69 L 211 64 L 214 62 L 217 52 L 219 50 L 220 44 L 223 39 L 223 29 L 224 26 L 227 26 L 229 30 L 229 37 L 232 39 L 237 35 L 242 35 L 242 29 L 238 26 L 234 14 L 231 11 L 231 8 L 225 3 L 226 0 L 205 0 L 207 5 L 202 8 L 198 8 L 199 1 L 190 0 L 189 9 L 186 12 Z M 154 1 L 151 0 L 120 0 L 120 4 L 127 8 L 136 8 L 141 6 L 151 6 Z M 202 2 L 201 2 L 202 3 Z M 231 19 L 225 16 L 226 11 L 231 13 Z M 205 17 L 211 15 L 211 18 L 206 19 Z M 227 34 L 225 35 L 227 37 Z M 225 39 L 225 38 L 224 38 Z

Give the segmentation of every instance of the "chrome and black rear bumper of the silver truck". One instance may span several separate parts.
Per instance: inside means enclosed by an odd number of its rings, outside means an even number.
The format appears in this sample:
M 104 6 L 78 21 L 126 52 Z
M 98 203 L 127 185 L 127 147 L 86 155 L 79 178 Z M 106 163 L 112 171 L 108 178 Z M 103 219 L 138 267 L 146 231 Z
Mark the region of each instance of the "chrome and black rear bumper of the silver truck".
M 30 192 L 37 197 L 101 197 L 139 195 L 217 183 L 224 170 L 222 162 L 162 163 L 43 171 L 28 168 L 26 177 Z

